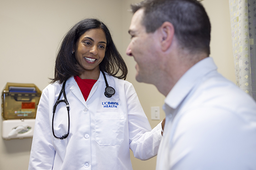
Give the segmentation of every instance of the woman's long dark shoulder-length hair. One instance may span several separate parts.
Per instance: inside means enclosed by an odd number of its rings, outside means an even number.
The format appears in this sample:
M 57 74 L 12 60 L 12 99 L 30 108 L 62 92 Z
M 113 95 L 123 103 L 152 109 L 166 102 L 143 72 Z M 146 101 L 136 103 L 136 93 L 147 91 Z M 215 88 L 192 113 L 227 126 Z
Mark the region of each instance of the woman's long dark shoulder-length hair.
M 76 23 L 64 36 L 56 57 L 52 83 L 57 81 L 62 83 L 71 76 L 81 75 L 85 71 L 76 61 L 72 50 L 76 47 L 76 42 L 83 33 L 97 28 L 101 28 L 105 32 L 107 40 L 105 57 L 99 64 L 99 69 L 119 79 L 126 79 L 128 73 L 127 66 L 116 49 L 108 27 L 98 19 L 87 18 Z

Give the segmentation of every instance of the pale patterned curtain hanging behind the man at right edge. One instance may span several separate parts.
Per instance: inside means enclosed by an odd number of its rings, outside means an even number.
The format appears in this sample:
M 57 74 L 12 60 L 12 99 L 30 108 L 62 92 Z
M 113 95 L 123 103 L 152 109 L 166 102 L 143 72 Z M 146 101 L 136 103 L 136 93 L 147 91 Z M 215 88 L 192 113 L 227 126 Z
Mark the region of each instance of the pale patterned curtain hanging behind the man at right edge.
M 256 100 L 256 0 L 229 0 L 236 84 Z

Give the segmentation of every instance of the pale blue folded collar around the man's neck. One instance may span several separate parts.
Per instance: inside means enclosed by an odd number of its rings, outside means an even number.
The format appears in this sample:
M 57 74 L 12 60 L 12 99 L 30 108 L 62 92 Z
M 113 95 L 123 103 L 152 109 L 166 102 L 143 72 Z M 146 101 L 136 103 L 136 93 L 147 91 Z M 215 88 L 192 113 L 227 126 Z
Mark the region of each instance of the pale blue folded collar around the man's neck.
M 165 104 L 176 109 L 180 103 L 186 98 L 193 87 L 209 72 L 217 70 L 213 59 L 207 57 L 194 66 L 192 66 L 186 73 L 178 80 L 175 86 L 166 96 Z

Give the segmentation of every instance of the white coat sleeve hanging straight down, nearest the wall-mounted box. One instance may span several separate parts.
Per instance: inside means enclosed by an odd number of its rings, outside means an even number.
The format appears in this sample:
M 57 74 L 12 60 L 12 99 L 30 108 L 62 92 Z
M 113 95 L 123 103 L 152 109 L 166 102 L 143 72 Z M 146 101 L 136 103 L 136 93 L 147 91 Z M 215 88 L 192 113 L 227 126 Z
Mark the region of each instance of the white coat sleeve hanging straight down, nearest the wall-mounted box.
M 44 89 L 36 112 L 29 170 L 52 170 L 55 150 L 51 140 L 48 90 Z

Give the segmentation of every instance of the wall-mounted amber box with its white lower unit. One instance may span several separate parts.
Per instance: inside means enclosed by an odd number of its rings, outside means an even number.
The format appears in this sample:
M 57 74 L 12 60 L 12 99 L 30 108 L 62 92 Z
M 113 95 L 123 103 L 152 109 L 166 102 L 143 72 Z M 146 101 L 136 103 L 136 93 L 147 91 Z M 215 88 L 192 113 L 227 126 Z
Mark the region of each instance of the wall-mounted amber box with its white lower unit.
M 6 83 L 2 92 L 2 137 L 33 137 L 41 91 L 35 84 Z

